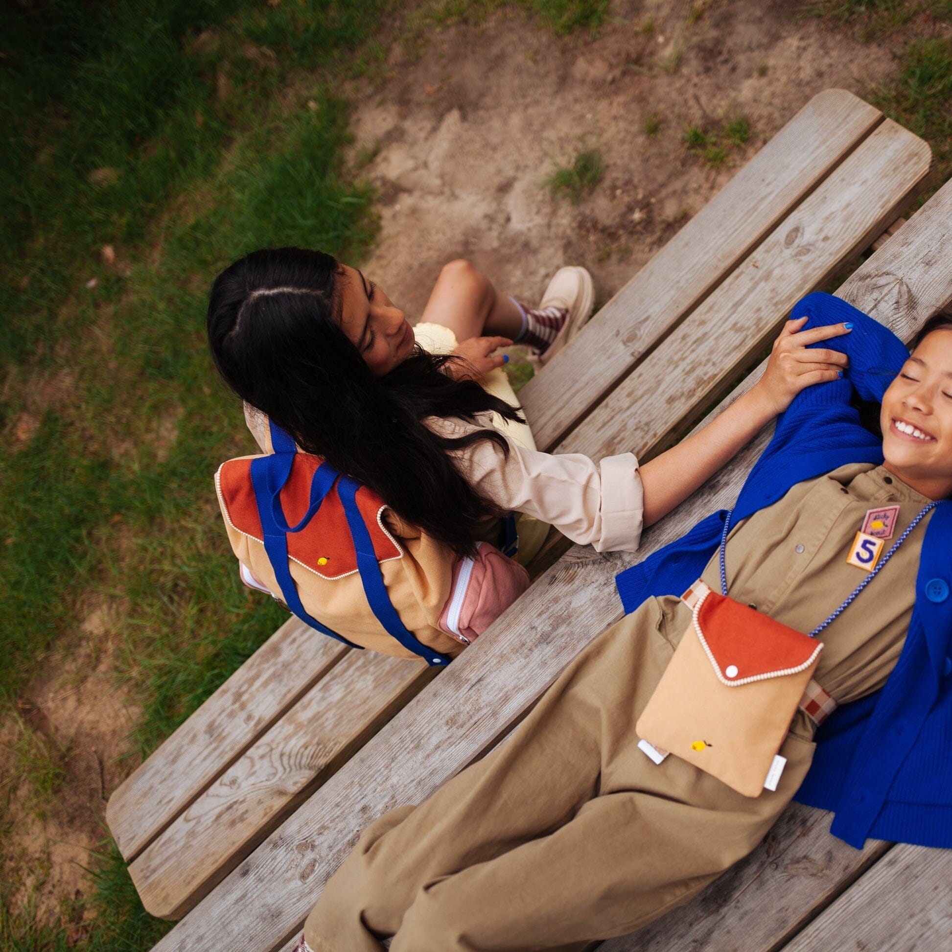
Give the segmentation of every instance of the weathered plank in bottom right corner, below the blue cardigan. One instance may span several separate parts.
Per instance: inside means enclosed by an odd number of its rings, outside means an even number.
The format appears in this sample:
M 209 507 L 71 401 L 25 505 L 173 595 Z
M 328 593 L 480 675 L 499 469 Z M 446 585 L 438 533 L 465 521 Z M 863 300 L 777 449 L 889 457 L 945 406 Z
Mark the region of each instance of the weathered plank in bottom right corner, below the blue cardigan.
M 952 948 L 952 850 L 896 846 L 784 952 Z

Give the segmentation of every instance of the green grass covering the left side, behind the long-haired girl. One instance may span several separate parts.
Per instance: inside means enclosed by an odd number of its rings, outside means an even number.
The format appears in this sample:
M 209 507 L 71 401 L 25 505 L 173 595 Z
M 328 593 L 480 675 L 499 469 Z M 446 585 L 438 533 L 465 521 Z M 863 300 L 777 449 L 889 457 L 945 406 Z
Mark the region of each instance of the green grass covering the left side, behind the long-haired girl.
M 50 652 L 84 637 L 90 600 L 121 605 L 120 674 L 143 705 L 145 754 L 286 617 L 248 597 L 219 525 L 211 476 L 249 441 L 210 366 L 204 299 L 211 276 L 251 248 L 366 254 L 372 193 L 347 178 L 347 105 L 326 82 L 375 61 L 368 30 L 384 10 L 164 0 L 8 16 L 5 716 Z M 279 96 L 292 81 L 300 96 Z M 96 169 L 114 172 L 96 184 Z M 49 800 L 64 752 L 25 727 L 12 756 L 14 782 Z M 93 866 L 84 947 L 145 948 L 169 928 L 142 909 L 114 850 Z M 12 916 L 0 900 L 4 949 L 65 948 L 78 927 L 69 910 L 41 927 L 29 906 Z

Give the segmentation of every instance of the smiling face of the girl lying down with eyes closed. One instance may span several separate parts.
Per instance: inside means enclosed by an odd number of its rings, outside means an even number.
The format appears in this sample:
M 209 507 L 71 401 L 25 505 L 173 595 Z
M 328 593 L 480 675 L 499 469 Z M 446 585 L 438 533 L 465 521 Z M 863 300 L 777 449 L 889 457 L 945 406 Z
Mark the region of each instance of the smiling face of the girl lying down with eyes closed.
M 952 494 L 952 327 L 932 331 L 883 395 L 885 467 L 930 499 Z

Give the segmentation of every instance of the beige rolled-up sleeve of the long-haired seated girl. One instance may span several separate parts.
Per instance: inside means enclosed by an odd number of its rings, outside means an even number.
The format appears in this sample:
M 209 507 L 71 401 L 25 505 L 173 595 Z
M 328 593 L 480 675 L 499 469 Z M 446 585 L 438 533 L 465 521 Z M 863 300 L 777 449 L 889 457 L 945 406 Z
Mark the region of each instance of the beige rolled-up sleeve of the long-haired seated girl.
M 473 428 L 453 426 L 454 432 L 444 432 L 459 436 Z M 572 542 L 593 545 L 599 552 L 638 548 L 645 492 L 634 454 L 607 456 L 595 463 L 582 453 L 526 449 L 502 435 L 507 455 L 489 440 L 453 454 L 481 496 L 503 509 L 535 516 Z

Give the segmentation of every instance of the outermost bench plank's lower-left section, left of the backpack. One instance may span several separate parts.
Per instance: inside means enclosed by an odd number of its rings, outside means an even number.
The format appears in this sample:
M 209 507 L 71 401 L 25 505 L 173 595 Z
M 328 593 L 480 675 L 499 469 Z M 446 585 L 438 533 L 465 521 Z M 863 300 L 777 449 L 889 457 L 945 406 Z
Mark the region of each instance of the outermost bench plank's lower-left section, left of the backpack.
M 131 860 L 350 649 L 290 618 L 148 760 L 106 807 Z

